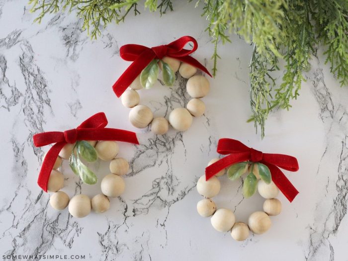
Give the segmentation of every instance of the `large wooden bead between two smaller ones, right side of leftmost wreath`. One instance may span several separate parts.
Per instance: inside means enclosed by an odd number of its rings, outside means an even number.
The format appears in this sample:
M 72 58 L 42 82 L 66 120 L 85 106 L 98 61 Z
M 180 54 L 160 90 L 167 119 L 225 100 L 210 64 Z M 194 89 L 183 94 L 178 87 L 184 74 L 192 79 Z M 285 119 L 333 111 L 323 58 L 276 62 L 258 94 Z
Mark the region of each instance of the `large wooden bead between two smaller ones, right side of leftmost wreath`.
M 108 174 L 101 180 L 100 187 L 105 196 L 118 197 L 124 192 L 126 184 L 121 176 Z

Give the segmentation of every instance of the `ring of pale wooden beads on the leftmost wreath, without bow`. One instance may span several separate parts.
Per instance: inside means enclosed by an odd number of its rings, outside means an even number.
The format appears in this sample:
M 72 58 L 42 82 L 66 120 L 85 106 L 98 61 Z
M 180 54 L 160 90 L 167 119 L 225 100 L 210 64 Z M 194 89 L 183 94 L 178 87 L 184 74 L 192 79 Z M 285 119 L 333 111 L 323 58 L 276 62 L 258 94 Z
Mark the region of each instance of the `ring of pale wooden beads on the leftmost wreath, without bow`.
M 64 175 L 58 171 L 63 160 L 68 160 L 72 154 L 75 144 L 66 144 L 53 166 L 53 170 L 48 180 L 47 191 L 53 192 L 50 195 L 50 205 L 56 210 L 63 210 L 68 206 L 69 213 L 76 218 L 86 217 L 91 210 L 96 213 L 103 213 L 110 208 L 109 197 L 118 197 L 125 190 L 125 182 L 122 175 L 129 170 L 128 162 L 123 158 L 116 158 L 119 147 L 115 141 L 88 141 L 92 145 L 103 161 L 110 161 L 110 172 L 101 180 L 100 194 L 90 199 L 87 195 L 75 195 L 71 199 L 64 191 Z

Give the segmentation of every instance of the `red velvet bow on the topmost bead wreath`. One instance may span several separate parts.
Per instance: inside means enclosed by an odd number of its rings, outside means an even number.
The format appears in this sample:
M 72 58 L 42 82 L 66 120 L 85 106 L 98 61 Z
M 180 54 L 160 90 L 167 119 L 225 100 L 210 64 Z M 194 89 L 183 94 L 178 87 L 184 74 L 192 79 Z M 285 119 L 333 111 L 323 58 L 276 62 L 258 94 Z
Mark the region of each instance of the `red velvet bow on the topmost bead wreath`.
M 184 46 L 189 43 L 193 43 L 192 50 L 184 49 Z M 201 65 L 196 59 L 189 56 L 197 50 L 198 43 L 196 39 L 191 36 L 182 36 L 179 39 L 171 42 L 170 44 L 160 45 L 156 47 L 146 47 L 138 44 L 126 44 L 120 48 L 120 56 L 125 61 L 133 62 L 126 71 L 121 75 L 120 78 L 113 84 L 113 91 L 116 93 L 117 97 L 130 86 L 130 84 L 140 75 L 141 71 L 154 59 L 162 59 L 165 56 L 175 58 L 181 62 L 190 64 L 210 77 L 211 74 L 208 70 Z

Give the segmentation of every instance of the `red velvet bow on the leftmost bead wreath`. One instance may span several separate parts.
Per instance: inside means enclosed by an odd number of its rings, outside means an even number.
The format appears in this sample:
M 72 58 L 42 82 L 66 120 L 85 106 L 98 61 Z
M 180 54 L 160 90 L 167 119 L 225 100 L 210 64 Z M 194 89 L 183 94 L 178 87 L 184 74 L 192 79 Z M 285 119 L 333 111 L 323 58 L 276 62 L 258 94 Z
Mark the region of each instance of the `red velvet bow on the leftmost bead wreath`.
M 67 143 L 75 143 L 81 140 L 93 141 L 123 141 L 133 144 L 139 144 L 137 136 L 134 132 L 105 128 L 107 119 L 104 112 L 99 112 L 89 117 L 76 129 L 60 131 L 49 131 L 35 134 L 33 136 L 34 145 L 42 147 L 55 143 L 47 152 L 47 155 L 42 163 L 37 183 L 47 192 L 47 183 L 53 169 L 54 163 L 59 152 Z

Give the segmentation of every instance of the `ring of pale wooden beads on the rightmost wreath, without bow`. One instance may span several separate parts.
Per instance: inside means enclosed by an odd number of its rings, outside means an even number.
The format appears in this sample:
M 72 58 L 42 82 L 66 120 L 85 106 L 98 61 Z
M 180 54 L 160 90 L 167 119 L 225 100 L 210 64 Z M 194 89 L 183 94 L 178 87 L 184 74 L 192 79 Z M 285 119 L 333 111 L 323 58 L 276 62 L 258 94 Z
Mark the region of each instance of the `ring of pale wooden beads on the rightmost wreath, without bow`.
M 219 159 L 213 159 L 208 166 L 217 162 Z M 276 216 L 281 212 L 281 202 L 275 197 L 279 190 L 271 181 L 266 184 L 260 179 L 258 174 L 258 192 L 266 200 L 263 202 L 263 211 L 256 211 L 249 216 L 248 224 L 244 222 L 236 222 L 234 213 L 227 208 L 217 208 L 215 202 L 211 199 L 220 192 L 220 181 L 217 177 L 226 173 L 226 169 L 215 174 L 208 181 L 205 180 L 205 175 L 201 176 L 197 181 L 197 191 L 204 199 L 198 201 L 197 212 L 202 217 L 211 217 L 210 222 L 214 229 L 219 232 L 230 231 L 231 236 L 236 241 L 246 240 L 250 231 L 254 234 L 263 234 L 271 226 L 269 216 Z

